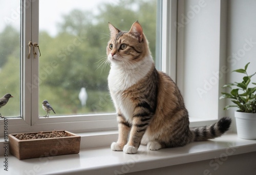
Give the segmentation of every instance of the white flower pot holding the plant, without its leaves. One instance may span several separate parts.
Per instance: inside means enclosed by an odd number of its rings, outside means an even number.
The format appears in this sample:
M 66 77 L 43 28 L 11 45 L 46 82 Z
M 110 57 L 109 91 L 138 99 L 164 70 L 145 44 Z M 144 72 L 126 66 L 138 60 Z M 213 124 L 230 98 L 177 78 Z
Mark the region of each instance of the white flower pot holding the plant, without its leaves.
M 238 137 L 256 139 L 256 113 L 234 112 L 236 117 Z

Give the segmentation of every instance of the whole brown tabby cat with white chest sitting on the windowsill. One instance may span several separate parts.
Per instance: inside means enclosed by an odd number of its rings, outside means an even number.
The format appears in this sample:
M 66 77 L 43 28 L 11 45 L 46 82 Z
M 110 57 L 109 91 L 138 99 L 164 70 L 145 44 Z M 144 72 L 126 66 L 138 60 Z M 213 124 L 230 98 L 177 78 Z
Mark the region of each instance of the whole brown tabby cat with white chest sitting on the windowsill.
M 156 70 L 138 21 L 129 32 L 110 23 L 109 29 L 108 86 L 119 130 L 112 150 L 136 154 L 140 144 L 149 150 L 184 146 L 219 137 L 229 129 L 231 119 L 227 117 L 210 126 L 189 128 L 183 97 L 175 82 Z

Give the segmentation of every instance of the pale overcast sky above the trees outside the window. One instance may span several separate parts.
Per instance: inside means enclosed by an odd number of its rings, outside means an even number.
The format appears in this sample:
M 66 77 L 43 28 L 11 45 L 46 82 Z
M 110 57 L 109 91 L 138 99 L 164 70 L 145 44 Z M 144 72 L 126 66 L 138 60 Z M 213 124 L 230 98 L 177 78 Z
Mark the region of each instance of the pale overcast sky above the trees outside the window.
M 61 16 L 73 9 L 97 12 L 97 6 L 103 2 L 117 3 L 118 0 L 39 0 L 39 28 L 51 35 L 56 34 L 56 24 L 62 21 Z M 20 0 L 0 0 L 0 32 L 6 25 L 19 29 Z

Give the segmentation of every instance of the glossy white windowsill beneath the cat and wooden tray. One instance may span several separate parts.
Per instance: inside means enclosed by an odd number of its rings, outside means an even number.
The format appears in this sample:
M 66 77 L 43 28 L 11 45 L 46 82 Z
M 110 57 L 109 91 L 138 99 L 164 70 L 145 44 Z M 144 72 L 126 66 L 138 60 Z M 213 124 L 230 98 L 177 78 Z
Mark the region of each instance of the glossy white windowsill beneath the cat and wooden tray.
M 87 144 L 87 143 L 82 143 Z M 89 143 L 90 144 L 90 143 Z M 149 151 L 140 146 L 137 154 L 112 151 L 110 146 L 81 149 L 79 154 L 18 160 L 8 157 L 8 174 L 117 174 L 174 166 L 256 151 L 256 140 L 245 140 L 236 134 L 193 142 L 184 147 Z M 4 156 L 0 156 L 3 162 Z M 125 171 L 125 172 L 124 172 Z M 4 168 L 0 169 L 1 174 Z

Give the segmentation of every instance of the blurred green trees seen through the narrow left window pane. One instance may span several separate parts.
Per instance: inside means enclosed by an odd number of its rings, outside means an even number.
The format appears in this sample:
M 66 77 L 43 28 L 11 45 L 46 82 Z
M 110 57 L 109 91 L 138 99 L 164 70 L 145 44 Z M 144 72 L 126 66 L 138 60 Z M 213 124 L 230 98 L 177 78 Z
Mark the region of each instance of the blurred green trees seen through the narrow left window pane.
M 0 97 L 10 93 L 14 98 L 0 108 L 2 116 L 20 116 L 19 33 L 7 26 L 0 34 Z

